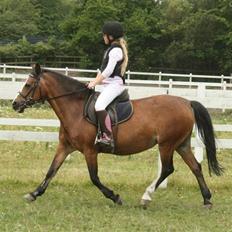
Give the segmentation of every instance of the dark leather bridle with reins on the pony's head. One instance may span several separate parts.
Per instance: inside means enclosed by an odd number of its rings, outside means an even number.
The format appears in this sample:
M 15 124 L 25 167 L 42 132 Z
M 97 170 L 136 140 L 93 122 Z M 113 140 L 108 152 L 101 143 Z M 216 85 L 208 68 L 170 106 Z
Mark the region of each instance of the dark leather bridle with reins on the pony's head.
M 46 96 L 42 95 L 42 90 L 41 90 L 41 86 L 40 86 L 41 77 L 37 76 L 37 75 L 35 75 L 33 73 L 31 73 L 29 75 L 29 77 L 35 79 L 35 82 L 30 86 L 30 89 L 27 92 L 27 94 L 23 95 L 21 91 L 18 92 L 18 94 L 24 100 L 21 103 L 21 107 L 24 107 L 24 108 L 31 107 L 32 105 L 34 105 L 36 103 L 44 104 L 45 101 L 54 100 L 54 99 L 61 98 L 61 97 L 67 97 L 67 96 L 70 96 L 70 95 L 73 95 L 73 94 L 78 94 L 78 93 L 81 93 L 81 92 L 84 92 L 84 91 L 87 91 L 87 90 L 92 91 L 92 90 L 88 89 L 87 85 L 86 85 L 85 87 L 83 87 L 83 88 L 81 88 L 81 89 L 79 89 L 77 91 L 64 93 L 64 94 L 61 94 L 61 95 L 58 95 L 58 96 L 55 96 L 55 97 L 46 97 Z M 34 95 L 35 95 L 35 91 L 36 91 L 37 88 L 39 88 L 39 98 L 37 100 L 34 100 Z

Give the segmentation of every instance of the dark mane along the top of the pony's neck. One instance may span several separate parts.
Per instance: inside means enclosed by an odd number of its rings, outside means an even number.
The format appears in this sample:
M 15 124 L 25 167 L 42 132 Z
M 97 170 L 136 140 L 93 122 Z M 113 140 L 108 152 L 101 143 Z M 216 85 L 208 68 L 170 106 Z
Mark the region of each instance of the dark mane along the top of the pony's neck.
M 55 72 L 53 70 L 43 69 L 43 73 L 49 73 L 52 77 L 54 77 L 58 82 L 61 83 L 62 87 L 67 91 L 76 91 L 79 89 L 86 88 L 86 85 L 77 79 L 66 76 L 59 72 Z

